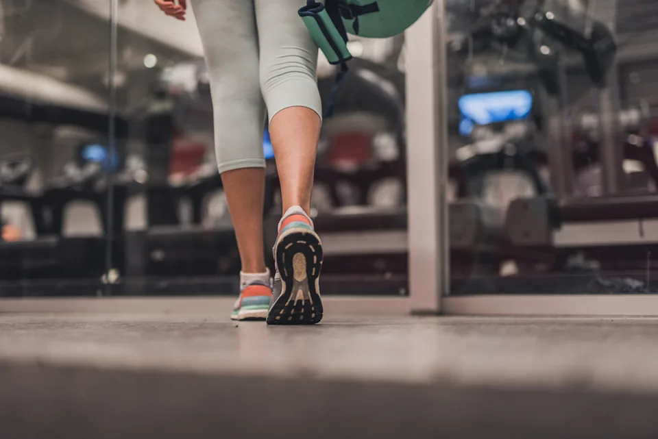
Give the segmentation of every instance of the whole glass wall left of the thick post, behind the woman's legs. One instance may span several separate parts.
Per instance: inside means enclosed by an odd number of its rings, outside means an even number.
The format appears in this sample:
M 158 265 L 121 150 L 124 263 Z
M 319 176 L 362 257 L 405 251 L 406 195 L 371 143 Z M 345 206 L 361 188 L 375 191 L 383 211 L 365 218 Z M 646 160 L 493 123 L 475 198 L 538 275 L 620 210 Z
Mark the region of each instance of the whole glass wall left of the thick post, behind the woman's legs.
M 0 8 L 0 296 L 236 294 L 193 11 L 177 21 L 150 0 Z M 403 45 L 348 43 L 311 212 L 326 294 L 406 294 Z M 321 54 L 325 107 L 336 76 Z M 271 259 L 281 197 L 266 126 L 263 149 Z

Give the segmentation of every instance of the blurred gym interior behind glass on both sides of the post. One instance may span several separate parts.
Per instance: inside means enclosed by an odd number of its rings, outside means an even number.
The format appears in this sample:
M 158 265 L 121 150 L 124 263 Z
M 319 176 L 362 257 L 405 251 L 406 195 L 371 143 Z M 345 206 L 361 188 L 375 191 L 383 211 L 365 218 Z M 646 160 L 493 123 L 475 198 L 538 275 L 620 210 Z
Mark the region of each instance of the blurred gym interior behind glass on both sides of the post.
M 449 0 L 446 20 L 451 294 L 658 291 L 658 4 Z M 193 15 L 119 0 L 116 24 L 106 0 L 0 0 L 2 297 L 237 292 Z M 350 51 L 316 167 L 323 291 L 404 296 L 404 37 Z M 324 101 L 334 73 L 321 55 Z M 269 255 L 267 129 L 263 149 Z

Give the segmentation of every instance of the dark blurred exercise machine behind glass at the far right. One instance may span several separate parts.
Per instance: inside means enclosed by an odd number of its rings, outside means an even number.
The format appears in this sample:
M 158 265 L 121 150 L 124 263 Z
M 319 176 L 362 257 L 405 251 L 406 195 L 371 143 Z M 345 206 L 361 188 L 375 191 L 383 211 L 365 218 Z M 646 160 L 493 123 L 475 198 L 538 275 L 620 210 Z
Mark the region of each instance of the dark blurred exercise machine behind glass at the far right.
M 594 86 L 597 110 L 584 115 L 594 136 L 585 136 L 575 149 L 561 143 L 553 154 L 550 168 L 555 197 L 511 203 L 506 225 L 509 238 L 515 247 L 552 255 L 535 276 L 552 292 L 648 292 L 651 255 L 658 242 L 658 236 L 652 234 L 656 195 L 650 190 L 657 166 L 653 145 L 642 130 L 624 126 L 629 119 L 642 117 L 629 117 L 637 110 L 621 109 L 614 96 L 618 84 L 613 33 L 591 14 L 566 5 L 540 5 L 532 23 L 555 47 L 561 47 L 559 50 L 568 48 L 578 54 Z M 558 72 L 563 78 L 561 70 Z M 564 79 L 559 84 L 561 91 L 565 90 Z M 563 114 L 557 114 L 560 121 Z M 557 131 L 563 133 L 562 139 L 572 132 L 566 124 L 555 126 L 561 129 Z M 637 173 L 626 175 L 624 158 L 642 162 L 648 178 L 638 184 Z M 587 175 L 578 176 L 592 163 L 598 166 L 598 175 L 589 176 L 589 181 Z M 602 273 L 614 280 L 602 279 Z

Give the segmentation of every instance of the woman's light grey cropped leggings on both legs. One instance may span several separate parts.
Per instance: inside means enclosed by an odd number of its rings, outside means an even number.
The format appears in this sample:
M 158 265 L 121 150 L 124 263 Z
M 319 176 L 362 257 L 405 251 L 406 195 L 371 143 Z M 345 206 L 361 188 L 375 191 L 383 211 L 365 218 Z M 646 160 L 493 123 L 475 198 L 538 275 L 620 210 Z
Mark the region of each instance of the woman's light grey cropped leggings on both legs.
M 263 129 L 284 108 L 321 115 L 304 0 L 193 0 L 210 75 L 219 172 L 264 167 Z

